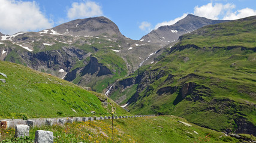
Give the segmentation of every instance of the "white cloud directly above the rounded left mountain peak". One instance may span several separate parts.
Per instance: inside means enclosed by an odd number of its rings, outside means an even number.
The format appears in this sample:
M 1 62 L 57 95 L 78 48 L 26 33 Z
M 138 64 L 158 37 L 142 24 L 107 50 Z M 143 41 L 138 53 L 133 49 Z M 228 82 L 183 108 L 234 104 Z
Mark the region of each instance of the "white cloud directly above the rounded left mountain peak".
M 72 7 L 68 9 L 68 18 L 86 18 L 103 15 L 100 5 L 92 1 L 82 3 L 73 2 Z

